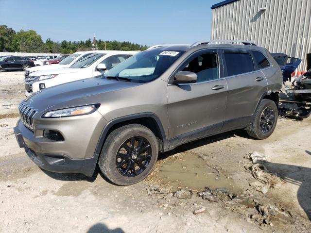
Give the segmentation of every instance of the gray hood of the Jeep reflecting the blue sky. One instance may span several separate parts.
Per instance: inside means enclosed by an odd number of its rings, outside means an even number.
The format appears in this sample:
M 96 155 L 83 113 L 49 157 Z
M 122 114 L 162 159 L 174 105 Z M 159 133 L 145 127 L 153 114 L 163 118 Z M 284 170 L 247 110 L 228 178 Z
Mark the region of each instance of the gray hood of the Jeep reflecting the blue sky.
M 24 101 L 38 109 L 40 114 L 46 110 L 56 110 L 74 106 L 103 102 L 108 92 L 130 88 L 143 83 L 131 83 L 103 78 L 88 78 L 53 86 L 36 92 Z

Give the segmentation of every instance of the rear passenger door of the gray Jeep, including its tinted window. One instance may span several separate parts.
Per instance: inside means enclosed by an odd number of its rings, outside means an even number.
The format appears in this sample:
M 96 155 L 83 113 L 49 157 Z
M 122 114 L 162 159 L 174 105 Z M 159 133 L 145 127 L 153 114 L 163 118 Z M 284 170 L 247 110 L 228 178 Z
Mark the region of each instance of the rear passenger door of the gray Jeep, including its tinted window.
M 246 126 L 267 91 L 266 77 L 252 54 L 251 50 L 222 50 L 228 84 L 224 131 Z

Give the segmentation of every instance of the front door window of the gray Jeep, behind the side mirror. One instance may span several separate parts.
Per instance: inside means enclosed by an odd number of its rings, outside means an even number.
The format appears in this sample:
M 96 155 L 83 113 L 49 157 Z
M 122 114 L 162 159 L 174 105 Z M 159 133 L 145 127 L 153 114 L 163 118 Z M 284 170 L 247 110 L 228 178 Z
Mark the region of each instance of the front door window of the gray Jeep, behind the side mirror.
M 217 53 L 206 53 L 194 58 L 183 71 L 196 73 L 197 83 L 219 78 Z

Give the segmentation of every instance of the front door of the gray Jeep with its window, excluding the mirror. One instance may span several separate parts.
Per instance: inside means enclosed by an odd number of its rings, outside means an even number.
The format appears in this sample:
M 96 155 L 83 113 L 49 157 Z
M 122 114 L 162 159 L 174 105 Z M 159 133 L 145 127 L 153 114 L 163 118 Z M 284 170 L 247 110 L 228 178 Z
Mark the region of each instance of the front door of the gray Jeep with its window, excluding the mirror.
M 198 80 L 196 83 L 168 85 L 169 136 L 172 147 L 221 130 L 227 84 L 220 64 L 217 50 L 200 50 L 175 71 L 194 72 Z

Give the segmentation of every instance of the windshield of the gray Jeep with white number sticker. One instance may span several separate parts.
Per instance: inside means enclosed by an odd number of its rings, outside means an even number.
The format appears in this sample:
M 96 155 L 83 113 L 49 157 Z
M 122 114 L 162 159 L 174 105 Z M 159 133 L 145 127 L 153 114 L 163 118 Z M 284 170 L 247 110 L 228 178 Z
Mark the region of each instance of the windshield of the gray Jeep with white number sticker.
M 126 59 L 105 73 L 105 77 L 126 79 L 137 83 L 160 77 L 185 51 L 146 50 Z

